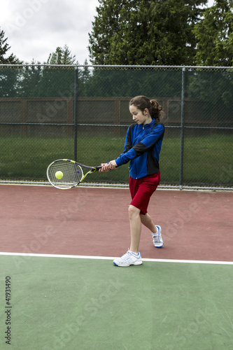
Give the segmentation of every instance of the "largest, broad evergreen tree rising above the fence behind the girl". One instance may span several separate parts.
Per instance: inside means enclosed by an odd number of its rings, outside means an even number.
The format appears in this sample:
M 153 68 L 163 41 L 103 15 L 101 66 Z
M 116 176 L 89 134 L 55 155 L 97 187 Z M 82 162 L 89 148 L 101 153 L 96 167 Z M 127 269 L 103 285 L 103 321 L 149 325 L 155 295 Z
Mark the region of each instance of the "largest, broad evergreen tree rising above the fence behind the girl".
M 99 0 L 89 34 L 93 64 L 194 64 L 193 29 L 207 0 Z

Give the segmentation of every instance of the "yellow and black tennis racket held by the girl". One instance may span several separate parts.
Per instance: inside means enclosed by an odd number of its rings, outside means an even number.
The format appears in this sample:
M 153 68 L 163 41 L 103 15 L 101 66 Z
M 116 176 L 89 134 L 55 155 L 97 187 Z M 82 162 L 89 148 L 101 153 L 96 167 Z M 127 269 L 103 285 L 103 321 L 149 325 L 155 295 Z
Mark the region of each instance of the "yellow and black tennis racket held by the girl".
M 84 175 L 83 168 L 89 171 Z M 48 181 L 52 186 L 60 190 L 67 190 L 78 186 L 89 174 L 97 172 L 99 167 L 87 167 L 74 160 L 58 159 L 52 162 L 47 168 Z

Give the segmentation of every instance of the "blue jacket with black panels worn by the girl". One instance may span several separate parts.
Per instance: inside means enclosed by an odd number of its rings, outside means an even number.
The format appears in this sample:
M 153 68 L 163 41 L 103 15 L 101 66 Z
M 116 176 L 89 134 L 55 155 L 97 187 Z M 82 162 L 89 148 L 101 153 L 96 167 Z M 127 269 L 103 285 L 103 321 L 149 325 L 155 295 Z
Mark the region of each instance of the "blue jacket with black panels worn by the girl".
M 155 119 L 150 124 L 129 126 L 124 152 L 115 160 L 118 167 L 129 162 L 129 175 L 133 179 L 160 172 L 159 160 L 164 125 Z

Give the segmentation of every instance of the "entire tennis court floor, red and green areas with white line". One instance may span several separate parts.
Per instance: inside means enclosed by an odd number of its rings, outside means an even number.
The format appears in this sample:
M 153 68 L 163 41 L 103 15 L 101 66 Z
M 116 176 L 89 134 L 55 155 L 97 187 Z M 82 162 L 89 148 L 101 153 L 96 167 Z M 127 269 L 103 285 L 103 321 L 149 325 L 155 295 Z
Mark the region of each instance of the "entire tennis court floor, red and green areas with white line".
M 0 191 L 1 349 L 233 348 L 231 192 L 157 190 L 164 247 L 120 268 L 129 190 Z

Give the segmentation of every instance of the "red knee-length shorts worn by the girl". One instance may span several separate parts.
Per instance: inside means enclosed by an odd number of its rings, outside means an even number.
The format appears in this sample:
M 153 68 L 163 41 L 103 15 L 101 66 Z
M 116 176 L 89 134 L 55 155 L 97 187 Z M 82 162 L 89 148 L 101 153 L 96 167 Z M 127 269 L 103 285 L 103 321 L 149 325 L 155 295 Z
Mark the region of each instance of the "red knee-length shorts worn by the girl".
M 159 184 L 160 173 L 143 176 L 141 179 L 133 179 L 129 176 L 129 190 L 132 197 L 130 204 L 140 209 L 140 214 L 146 215 L 150 197 Z

